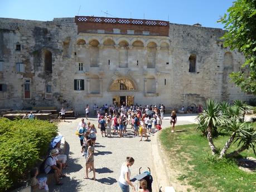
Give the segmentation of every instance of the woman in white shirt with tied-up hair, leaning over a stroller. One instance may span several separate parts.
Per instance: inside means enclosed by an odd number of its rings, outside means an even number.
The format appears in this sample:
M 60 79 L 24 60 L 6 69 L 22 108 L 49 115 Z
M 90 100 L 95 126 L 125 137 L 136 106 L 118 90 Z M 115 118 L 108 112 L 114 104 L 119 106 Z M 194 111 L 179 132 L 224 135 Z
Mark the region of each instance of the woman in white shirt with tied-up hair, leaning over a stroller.
M 118 183 L 122 192 L 129 192 L 129 185 L 132 186 L 133 191 L 136 191 L 134 185 L 130 181 L 131 171 L 129 169 L 129 166 L 132 166 L 133 164 L 134 164 L 133 157 L 126 157 L 126 162 L 123 163 L 122 165 L 120 176 L 118 179 Z

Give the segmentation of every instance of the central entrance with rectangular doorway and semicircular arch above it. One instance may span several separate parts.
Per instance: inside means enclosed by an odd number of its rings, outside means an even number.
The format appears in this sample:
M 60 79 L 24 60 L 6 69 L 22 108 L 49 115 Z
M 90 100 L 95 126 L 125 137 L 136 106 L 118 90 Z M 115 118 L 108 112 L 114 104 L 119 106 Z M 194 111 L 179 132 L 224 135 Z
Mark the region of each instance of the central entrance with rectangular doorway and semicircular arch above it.
M 109 91 L 113 91 L 113 105 L 133 105 L 134 95 L 132 91 L 136 91 L 137 87 L 132 80 L 128 78 L 118 78 L 113 80 L 109 86 Z

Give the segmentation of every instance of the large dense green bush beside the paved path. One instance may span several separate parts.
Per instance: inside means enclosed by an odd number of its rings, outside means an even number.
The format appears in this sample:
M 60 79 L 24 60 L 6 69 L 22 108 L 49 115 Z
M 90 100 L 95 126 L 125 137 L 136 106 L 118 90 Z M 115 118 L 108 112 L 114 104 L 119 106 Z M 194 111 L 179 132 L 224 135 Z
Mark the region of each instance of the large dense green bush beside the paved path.
M 0 191 L 22 179 L 46 155 L 57 126 L 41 120 L 0 119 Z

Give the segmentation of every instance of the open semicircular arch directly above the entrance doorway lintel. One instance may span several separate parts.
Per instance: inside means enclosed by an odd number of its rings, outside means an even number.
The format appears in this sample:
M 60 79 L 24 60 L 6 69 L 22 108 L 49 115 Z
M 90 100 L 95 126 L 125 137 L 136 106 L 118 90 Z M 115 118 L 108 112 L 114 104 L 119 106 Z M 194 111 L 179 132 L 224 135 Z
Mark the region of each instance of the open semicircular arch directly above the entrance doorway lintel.
M 126 90 L 120 90 L 120 83 L 123 83 Z M 136 81 L 129 76 L 115 76 L 109 83 L 108 91 L 137 91 L 138 86 Z

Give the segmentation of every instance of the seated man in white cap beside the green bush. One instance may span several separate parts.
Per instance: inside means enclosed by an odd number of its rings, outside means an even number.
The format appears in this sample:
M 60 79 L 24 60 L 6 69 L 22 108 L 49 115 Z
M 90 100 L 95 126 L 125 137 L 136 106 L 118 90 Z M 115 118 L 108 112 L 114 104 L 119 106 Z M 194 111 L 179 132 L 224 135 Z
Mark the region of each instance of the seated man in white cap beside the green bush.
M 50 156 L 48 156 L 45 160 L 45 173 L 46 174 L 54 174 L 54 179 L 56 181 L 56 185 L 62 185 L 63 183 L 59 178 L 65 178 L 66 175 L 61 174 L 62 164 L 57 164 L 56 155 L 59 154 L 57 149 L 52 149 L 50 152 Z

